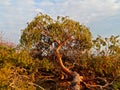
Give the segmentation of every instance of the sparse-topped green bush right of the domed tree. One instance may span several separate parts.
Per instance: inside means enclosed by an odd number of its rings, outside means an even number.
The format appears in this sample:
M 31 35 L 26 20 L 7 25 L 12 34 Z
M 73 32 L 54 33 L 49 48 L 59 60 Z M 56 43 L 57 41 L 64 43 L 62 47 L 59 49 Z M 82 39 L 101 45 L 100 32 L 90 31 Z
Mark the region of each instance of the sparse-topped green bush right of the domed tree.
M 95 72 L 99 72 L 103 76 L 120 75 L 120 37 L 111 36 L 102 39 L 101 36 L 98 36 L 93 43 L 95 52 L 92 54 L 90 63 Z

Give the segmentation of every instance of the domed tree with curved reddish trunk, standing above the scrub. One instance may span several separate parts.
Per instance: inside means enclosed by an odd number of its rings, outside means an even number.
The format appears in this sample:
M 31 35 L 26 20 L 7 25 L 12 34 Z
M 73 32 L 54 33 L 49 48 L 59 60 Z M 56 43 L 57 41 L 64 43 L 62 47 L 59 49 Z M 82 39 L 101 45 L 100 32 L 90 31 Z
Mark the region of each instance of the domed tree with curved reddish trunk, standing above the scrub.
M 23 30 L 20 43 L 24 49 L 37 50 L 40 58 L 55 56 L 61 70 L 73 78 L 75 88 L 82 81 L 77 72 L 64 66 L 62 55 L 71 56 L 91 48 L 91 33 L 86 26 L 69 17 L 58 16 L 54 20 L 39 13 Z

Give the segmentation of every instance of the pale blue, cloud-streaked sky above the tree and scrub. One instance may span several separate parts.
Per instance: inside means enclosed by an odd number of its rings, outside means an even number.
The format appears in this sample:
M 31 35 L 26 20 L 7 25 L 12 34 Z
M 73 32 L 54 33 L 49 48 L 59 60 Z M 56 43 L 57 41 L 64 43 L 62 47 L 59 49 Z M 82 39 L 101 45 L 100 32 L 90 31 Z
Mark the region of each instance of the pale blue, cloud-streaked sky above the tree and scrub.
M 0 0 L 0 33 L 19 43 L 21 30 L 39 13 L 69 16 L 90 28 L 93 38 L 120 35 L 120 0 Z

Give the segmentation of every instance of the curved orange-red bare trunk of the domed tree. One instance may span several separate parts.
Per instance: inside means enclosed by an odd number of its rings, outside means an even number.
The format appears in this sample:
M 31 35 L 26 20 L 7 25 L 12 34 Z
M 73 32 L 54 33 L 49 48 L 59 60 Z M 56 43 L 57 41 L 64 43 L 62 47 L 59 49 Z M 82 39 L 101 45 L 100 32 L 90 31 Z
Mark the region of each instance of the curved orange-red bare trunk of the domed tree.
M 67 74 L 68 76 L 71 76 L 73 78 L 73 81 L 70 85 L 70 90 L 80 90 L 80 82 L 82 82 L 83 77 L 80 76 L 77 72 L 73 72 L 69 70 L 67 67 L 64 66 L 62 62 L 61 54 L 59 53 L 60 48 L 62 47 L 62 44 L 59 44 L 59 46 L 56 48 L 56 56 L 59 63 L 59 66 L 61 67 L 61 70 Z

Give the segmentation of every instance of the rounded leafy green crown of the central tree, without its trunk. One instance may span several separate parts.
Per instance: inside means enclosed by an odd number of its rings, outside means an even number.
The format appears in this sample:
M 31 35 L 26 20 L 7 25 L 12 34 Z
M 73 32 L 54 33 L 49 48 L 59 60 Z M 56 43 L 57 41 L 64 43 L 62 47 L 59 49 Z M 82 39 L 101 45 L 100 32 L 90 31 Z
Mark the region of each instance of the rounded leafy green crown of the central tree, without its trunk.
M 23 30 L 20 39 L 23 48 L 37 48 L 48 54 L 58 43 L 67 43 L 62 49 L 90 49 L 91 33 L 89 28 L 69 17 L 58 16 L 56 20 L 46 14 L 38 14 Z M 53 51 L 53 49 L 52 49 Z M 51 53 L 51 52 L 50 52 Z

